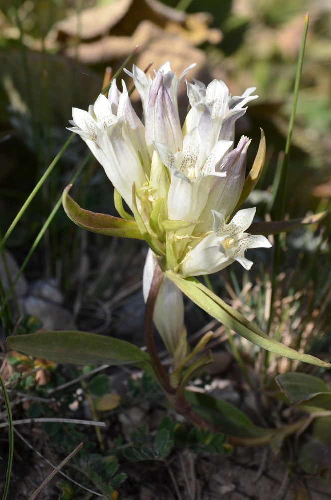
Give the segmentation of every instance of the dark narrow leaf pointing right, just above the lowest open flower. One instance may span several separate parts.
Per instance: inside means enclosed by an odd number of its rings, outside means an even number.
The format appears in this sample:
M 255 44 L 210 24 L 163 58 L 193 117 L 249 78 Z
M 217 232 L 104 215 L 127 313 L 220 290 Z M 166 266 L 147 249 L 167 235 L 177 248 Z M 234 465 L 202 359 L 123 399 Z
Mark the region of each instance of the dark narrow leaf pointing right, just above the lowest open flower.
M 318 223 L 325 217 L 326 214 L 327 211 L 316 213 L 314 215 L 308 215 L 307 217 L 301 217 L 298 219 L 275 220 L 271 222 L 253 222 L 247 229 L 247 232 L 249 232 L 250 234 L 262 234 L 263 236 L 267 236 L 268 234 L 288 232 L 296 229 L 297 227 Z

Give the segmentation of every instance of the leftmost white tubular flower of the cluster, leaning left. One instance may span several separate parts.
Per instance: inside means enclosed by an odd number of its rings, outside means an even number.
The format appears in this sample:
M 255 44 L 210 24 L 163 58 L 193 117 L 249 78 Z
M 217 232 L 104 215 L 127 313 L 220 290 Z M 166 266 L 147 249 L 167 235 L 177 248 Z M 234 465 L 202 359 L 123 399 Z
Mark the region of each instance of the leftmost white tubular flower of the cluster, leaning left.
M 69 130 L 82 137 L 132 207 L 132 184 L 135 182 L 138 189 L 144 184 L 150 173 L 150 160 L 144 126 L 132 108 L 124 82 L 123 90 L 119 92 L 113 81 L 108 99 L 99 95 L 88 112 L 73 108 L 74 127 Z

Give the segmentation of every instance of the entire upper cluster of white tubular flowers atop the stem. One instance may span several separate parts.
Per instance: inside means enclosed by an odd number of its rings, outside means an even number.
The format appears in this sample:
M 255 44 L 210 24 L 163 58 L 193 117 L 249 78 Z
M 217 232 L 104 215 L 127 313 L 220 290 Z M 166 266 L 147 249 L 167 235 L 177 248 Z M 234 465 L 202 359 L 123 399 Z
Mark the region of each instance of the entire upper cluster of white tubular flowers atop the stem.
M 153 77 L 133 66 L 126 72 L 140 94 L 143 120 L 125 83 L 121 92 L 114 80 L 108 98 L 100 95 L 88 112 L 73 108 L 70 130 L 104 167 L 163 270 L 196 276 L 235 260 L 249 269 L 245 250 L 270 246 L 264 236 L 245 232 L 255 209 L 226 221 L 240 199 L 250 144 L 242 137 L 234 147 L 235 121 L 257 98 L 255 88 L 232 97 L 222 81 L 186 82 L 190 110 L 181 127 L 177 91 L 193 67 L 177 78 L 169 62 Z

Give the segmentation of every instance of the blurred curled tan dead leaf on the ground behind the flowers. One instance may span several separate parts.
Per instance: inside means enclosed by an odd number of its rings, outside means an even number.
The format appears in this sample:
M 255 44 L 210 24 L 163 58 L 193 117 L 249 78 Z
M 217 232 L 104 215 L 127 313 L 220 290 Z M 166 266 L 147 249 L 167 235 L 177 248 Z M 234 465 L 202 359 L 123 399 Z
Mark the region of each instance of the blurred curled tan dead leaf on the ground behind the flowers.
M 211 21 L 210 14 L 186 14 L 156 0 L 118 0 L 57 22 L 46 44 L 61 42 L 65 55 L 96 64 L 126 57 L 135 45 L 141 50 L 162 35 L 183 37 L 192 45 L 219 43 L 221 32 L 208 28 Z

